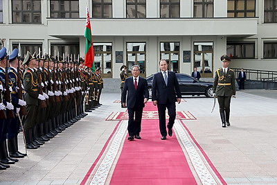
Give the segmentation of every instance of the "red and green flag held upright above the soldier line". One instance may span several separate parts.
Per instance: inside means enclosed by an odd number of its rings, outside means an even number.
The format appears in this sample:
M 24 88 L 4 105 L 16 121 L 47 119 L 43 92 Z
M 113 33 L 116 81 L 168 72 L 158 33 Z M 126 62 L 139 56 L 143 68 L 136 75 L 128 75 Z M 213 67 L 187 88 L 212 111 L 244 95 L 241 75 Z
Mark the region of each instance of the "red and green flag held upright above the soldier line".
M 91 35 L 91 20 L 89 19 L 89 8 L 87 8 L 87 21 L 86 28 L 84 28 L 84 37 L 86 38 L 86 46 L 84 53 L 84 65 L 91 68 L 91 71 L 95 71 L 94 65 L 94 51 L 93 51 L 93 42 Z

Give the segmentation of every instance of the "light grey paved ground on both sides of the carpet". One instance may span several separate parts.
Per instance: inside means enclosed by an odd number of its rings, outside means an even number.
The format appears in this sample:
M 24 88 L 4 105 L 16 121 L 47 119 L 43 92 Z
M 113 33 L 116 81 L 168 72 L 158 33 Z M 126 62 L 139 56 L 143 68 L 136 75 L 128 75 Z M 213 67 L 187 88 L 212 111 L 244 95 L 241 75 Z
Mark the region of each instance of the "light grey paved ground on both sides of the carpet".
M 119 99 L 120 94 L 102 94 L 100 108 L 1 170 L 0 184 L 80 184 L 116 126 L 105 118 L 125 111 L 113 103 Z M 231 126 L 226 128 L 221 127 L 218 105 L 211 114 L 213 98 L 184 99 L 187 102 L 177 110 L 197 118 L 185 121 L 186 126 L 228 184 L 277 184 L 277 91 L 238 91 L 231 101 Z M 19 148 L 24 151 L 21 134 Z

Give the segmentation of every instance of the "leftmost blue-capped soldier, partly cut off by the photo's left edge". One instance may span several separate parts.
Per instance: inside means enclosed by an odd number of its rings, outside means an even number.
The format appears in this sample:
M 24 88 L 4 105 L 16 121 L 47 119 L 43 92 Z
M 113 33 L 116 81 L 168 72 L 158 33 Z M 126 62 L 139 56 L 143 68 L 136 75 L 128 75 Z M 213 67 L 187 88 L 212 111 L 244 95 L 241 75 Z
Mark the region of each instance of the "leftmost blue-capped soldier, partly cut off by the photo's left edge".
M 1 91 L 1 104 L 0 104 L 0 169 L 5 170 L 10 168 L 8 164 L 15 164 L 17 159 L 12 159 L 8 156 L 7 149 L 7 134 L 11 118 L 14 118 L 14 106 L 10 103 L 10 91 L 12 88 L 9 85 L 8 78 L 8 56 L 7 49 L 3 47 L 0 50 L 0 91 Z M 5 110 L 6 109 L 6 110 Z M 17 160 L 18 161 L 18 160 Z

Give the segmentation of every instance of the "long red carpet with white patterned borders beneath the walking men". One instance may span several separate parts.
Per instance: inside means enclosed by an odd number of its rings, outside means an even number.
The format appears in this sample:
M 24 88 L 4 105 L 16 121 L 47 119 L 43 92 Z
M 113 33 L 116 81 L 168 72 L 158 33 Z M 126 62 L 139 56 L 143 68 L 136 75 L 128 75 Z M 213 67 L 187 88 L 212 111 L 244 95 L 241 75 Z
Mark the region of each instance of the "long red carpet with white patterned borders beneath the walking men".
M 145 112 L 157 111 L 147 103 Z M 184 123 L 161 140 L 159 120 L 143 120 L 141 137 L 127 141 L 127 121 L 118 123 L 81 184 L 226 184 Z

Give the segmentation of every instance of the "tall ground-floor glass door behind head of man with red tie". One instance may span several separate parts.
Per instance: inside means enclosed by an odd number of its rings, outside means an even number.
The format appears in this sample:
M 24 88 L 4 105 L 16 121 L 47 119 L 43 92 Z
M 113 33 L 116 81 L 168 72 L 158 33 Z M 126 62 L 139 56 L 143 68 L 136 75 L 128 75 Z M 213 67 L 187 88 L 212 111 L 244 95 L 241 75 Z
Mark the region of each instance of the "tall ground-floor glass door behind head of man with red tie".
M 139 65 L 141 74 L 145 77 L 146 43 L 127 42 L 127 72 L 131 73 L 133 65 Z

